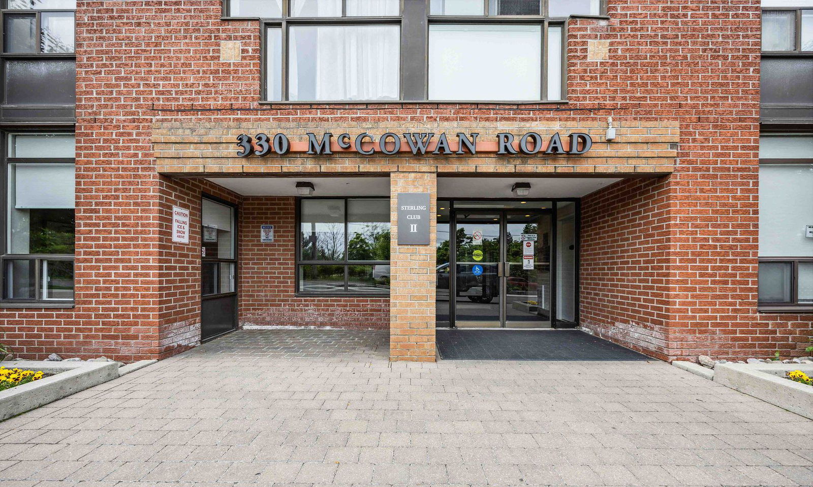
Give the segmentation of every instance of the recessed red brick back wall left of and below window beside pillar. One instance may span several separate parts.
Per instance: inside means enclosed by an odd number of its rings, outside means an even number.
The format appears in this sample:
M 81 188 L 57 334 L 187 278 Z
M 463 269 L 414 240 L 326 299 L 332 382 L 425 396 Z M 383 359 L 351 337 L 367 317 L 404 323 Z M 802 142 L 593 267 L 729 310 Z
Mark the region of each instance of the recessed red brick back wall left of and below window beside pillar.
M 240 211 L 240 325 L 389 327 L 389 299 L 295 297 L 293 197 L 246 196 Z M 274 225 L 274 243 L 259 241 Z

